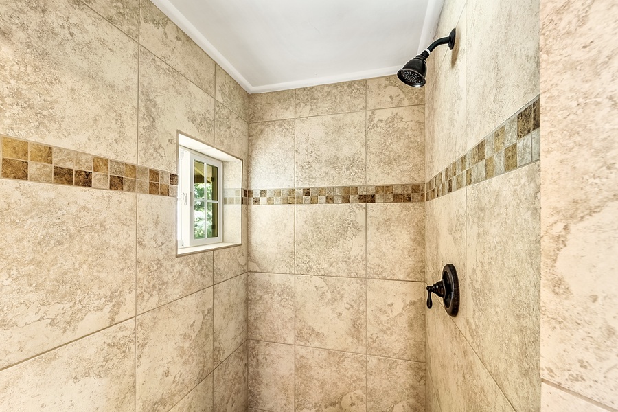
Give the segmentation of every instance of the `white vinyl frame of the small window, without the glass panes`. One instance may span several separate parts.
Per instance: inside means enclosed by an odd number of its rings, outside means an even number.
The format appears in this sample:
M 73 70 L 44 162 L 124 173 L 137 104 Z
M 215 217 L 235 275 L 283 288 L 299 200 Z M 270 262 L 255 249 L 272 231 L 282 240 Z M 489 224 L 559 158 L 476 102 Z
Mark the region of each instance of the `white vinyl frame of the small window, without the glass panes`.
M 207 165 L 217 168 L 217 198 L 206 199 L 204 194 L 203 199 L 198 201 L 204 202 L 204 211 L 206 214 L 207 203 L 217 205 L 217 236 L 205 238 L 195 238 L 195 214 L 194 203 L 194 162 L 204 163 L 204 170 Z M 205 173 L 206 174 L 206 173 Z M 223 163 L 218 159 L 206 156 L 203 153 L 196 152 L 189 148 L 179 146 L 179 196 L 178 196 L 178 221 L 179 221 L 179 249 L 186 247 L 203 246 L 206 244 L 216 244 L 223 241 Z M 205 233 L 207 230 L 205 229 Z

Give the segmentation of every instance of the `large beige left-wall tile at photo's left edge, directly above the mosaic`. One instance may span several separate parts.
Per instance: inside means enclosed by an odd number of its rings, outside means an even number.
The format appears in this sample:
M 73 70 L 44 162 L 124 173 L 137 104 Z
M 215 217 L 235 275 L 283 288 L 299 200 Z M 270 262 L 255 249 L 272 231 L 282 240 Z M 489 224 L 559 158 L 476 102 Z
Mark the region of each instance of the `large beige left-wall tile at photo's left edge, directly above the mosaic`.
M 137 43 L 79 1 L 0 5 L 0 133 L 135 163 Z

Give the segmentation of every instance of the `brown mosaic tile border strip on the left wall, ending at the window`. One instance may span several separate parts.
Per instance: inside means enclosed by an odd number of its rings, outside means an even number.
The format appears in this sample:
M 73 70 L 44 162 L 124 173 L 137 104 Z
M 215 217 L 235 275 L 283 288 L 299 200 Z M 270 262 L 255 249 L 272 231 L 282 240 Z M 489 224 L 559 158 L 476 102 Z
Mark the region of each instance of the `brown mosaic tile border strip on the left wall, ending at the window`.
M 84 152 L 2 136 L 0 176 L 56 185 L 173 196 L 178 176 Z

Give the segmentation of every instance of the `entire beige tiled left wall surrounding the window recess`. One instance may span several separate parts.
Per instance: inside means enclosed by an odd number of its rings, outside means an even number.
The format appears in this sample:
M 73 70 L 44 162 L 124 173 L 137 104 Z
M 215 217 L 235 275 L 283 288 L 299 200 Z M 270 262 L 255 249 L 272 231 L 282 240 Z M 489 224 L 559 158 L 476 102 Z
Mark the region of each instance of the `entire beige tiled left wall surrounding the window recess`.
M 247 160 L 249 95 L 148 0 L 3 2 L 0 23 L 0 135 L 34 148 L 31 181 L 0 180 L 0 409 L 244 412 L 246 219 L 242 246 L 176 258 L 173 194 L 77 171 L 163 187 L 177 130 Z M 74 186 L 36 182 L 52 155 Z

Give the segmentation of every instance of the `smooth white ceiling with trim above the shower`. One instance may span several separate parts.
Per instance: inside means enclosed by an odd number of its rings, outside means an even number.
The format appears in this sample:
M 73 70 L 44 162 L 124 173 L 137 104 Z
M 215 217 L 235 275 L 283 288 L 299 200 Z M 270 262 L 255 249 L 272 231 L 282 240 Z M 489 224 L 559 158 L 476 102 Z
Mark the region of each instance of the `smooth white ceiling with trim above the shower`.
M 444 0 L 152 0 L 249 93 L 385 76 Z

